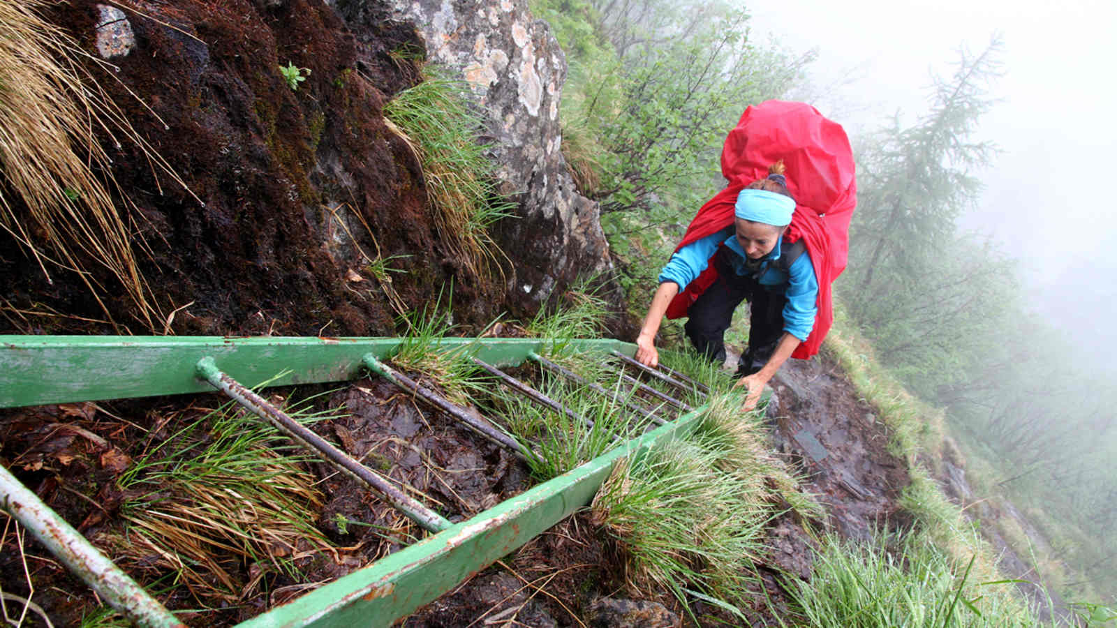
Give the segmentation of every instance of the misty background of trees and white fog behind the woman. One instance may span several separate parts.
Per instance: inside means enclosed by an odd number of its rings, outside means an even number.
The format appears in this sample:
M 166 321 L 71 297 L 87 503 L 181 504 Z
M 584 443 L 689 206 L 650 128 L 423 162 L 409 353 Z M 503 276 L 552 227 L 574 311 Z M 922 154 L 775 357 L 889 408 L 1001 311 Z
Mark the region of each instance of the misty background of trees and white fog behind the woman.
M 743 107 L 813 104 L 858 158 L 836 329 L 927 403 L 911 429 L 930 458 L 966 469 L 971 513 L 999 522 L 990 504 L 1011 502 L 1047 541 L 999 533 L 1018 551 L 1043 548 L 1053 590 L 1117 599 L 1117 253 L 1099 193 L 1117 144 L 1117 7 L 532 7 L 566 54 L 563 154 L 600 203 L 630 311 L 647 311 L 682 229 L 723 184 L 722 146 Z M 675 323 L 661 336 L 685 345 Z

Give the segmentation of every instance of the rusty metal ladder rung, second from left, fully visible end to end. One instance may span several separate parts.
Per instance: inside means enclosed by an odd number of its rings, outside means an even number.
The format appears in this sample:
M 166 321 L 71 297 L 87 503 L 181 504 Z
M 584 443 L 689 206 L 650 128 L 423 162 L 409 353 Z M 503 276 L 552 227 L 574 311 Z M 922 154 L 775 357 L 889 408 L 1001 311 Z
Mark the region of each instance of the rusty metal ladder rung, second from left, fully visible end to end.
M 198 362 L 198 377 L 210 382 L 213 388 L 226 393 L 233 401 L 286 434 L 303 447 L 318 454 L 322 459 L 330 463 L 337 470 L 379 493 L 392 507 L 408 515 L 408 517 L 424 530 L 440 532 L 454 525 L 443 516 L 404 495 L 402 491 L 393 486 L 380 474 L 354 460 L 326 439 L 299 425 L 298 421 L 287 416 L 279 408 L 276 408 L 260 396 L 245 388 L 237 380 L 222 373 L 217 368 L 217 363 L 212 358 L 207 356 Z

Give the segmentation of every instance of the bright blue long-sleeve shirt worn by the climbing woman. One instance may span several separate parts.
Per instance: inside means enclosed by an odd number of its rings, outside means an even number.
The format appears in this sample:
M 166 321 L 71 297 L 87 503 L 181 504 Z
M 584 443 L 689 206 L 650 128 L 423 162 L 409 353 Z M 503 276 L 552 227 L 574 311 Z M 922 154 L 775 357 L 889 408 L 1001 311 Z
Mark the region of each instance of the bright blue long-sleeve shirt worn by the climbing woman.
M 737 275 L 746 275 L 748 273 L 745 268 L 747 256 L 741 248 L 733 228 L 729 227 L 677 250 L 668 260 L 667 266 L 659 273 L 659 283 L 675 282 L 679 285 L 679 289 L 685 288 L 706 269 L 710 256 L 722 244 L 734 253 L 729 256 L 729 263 Z M 776 239 L 772 253 L 762 258 L 761 268 L 763 270 L 760 283 L 766 289 L 786 294 L 787 304 L 783 307 L 783 331 L 802 341 L 811 334 L 811 330 L 814 327 L 814 316 L 819 312 L 819 280 L 814 276 L 811 257 L 805 250 L 786 273 L 772 267 L 771 263 L 780 258 L 782 244 L 782 238 Z

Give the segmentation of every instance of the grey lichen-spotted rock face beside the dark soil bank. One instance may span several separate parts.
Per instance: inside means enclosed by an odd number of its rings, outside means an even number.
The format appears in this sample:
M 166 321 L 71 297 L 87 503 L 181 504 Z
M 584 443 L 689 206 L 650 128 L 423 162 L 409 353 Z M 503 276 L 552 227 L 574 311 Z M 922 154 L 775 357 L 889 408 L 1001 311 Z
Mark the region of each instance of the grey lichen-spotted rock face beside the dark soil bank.
M 596 203 L 580 196 L 560 151 L 558 98 L 566 61 L 525 0 L 336 0 L 361 37 L 385 22 L 413 23 L 428 60 L 459 72 L 488 123 L 500 191 L 518 202 L 497 241 L 513 261 L 508 306 L 534 312 L 579 275 L 610 267 Z

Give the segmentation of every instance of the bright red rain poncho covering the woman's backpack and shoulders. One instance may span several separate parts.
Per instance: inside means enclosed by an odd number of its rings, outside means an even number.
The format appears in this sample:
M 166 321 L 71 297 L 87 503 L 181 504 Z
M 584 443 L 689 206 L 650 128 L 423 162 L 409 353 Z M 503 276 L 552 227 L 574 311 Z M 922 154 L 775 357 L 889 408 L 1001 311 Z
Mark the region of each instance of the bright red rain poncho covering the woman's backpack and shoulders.
M 792 353 L 805 360 L 819 352 L 833 323 L 830 284 L 846 269 L 849 220 L 857 204 L 853 152 L 840 125 L 805 103 L 765 101 L 746 108 L 722 150 L 722 174 L 728 184 L 701 206 L 675 250 L 733 225 L 737 194 L 767 177 L 768 165 L 781 159 L 796 202 L 784 240 L 803 239 L 819 280 L 814 329 Z M 709 264 L 671 301 L 667 317 L 685 316 L 715 279 L 717 270 Z

